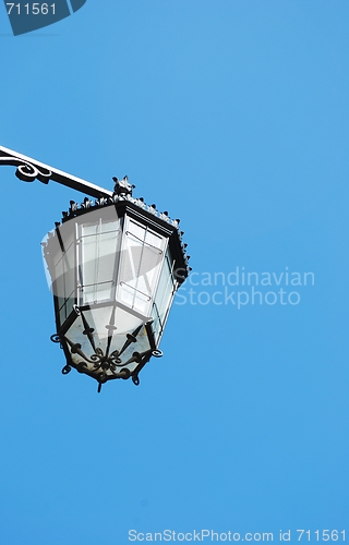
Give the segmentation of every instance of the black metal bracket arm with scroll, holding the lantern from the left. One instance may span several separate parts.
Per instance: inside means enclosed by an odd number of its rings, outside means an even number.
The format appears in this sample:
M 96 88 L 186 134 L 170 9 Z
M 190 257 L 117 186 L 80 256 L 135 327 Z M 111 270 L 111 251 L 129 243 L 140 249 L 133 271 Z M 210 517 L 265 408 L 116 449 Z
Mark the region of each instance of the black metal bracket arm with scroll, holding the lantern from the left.
M 32 159 L 31 157 L 26 157 L 25 155 L 17 154 L 12 149 L 0 146 L 0 167 L 2 165 L 17 167 L 15 175 L 24 182 L 39 180 L 43 183 L 48 183 L 51 180 L 52 182 L 67 185 L 72 190 L 80 191 L 95 198 L 112 196 L 112 191 L 105 190 L 82 178 L 68 174 L 62 170 L 55 169 L 36 159 Z

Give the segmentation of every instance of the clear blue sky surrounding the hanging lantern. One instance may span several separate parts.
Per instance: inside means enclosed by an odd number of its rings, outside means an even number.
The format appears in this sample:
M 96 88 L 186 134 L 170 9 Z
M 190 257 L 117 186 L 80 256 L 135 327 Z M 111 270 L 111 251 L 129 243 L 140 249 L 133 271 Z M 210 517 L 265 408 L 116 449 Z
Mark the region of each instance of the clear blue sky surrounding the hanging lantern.
M 108 189 L 128 174 L 181 218 L 198 282 L 139 387 L 64 377 L 40 241 L 83 195 L 1 168 L 4 545 L 349 540 L 348 15 L 345 0 L 87 0 L 13 37 L 0 5 L 0 144 Z M 262 304 L 242 270 L 270 274 Z M 267 304 L 280 289 L 298 304 Z

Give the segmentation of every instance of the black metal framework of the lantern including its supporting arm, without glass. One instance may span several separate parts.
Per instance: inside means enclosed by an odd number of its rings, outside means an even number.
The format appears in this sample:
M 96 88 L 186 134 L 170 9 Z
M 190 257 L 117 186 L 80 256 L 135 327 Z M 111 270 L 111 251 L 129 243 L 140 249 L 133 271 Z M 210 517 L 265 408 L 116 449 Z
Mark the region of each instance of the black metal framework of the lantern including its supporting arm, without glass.
M 168 213 L 165 211 L 163 214 L 159 214 L 156 210 L 156 206 L 147 206 L 143 198 L 134 198 L 132 196 L 132 190 L 134 189 L 134 185 L 131 185 L 128 182 L 128 178 L 124 177 L 123 180 L 119 181 L 117 178 L 113 178 L 113 181 L 116 182 L 115 191 L 108 191 L 105 190 L 104 187 L 99 187 L 98 185 L 92 184 L 91 182 L 87 182 L 86 180 L 83 180 L 81 178 L 76 178 L 72 174 L 68 174 L 67 172 L 63 172 L 61 170 L 55 169 L 52 167 L 49 167 L 48 165 L 45 165 L 43 162 L 39 162 L 35 159 L 32 159 L 31 157 L 27 157 L 25 155 L 19 154 L 16 152 L 13 152 L 12 149 L 5 148 L 3 146 L 0 146 L 0 166 L 14 166 L 16 168 L 15 175 L 25 182 L 33 182 L 34 180 L 39 180 L 40 182 L 47 184 L 49 181 L 55 181 L 58 182 L 62 185 L 65 185 L 68 187 L 71 187 L 73 190 L 80 191 L 82 193 L 85 193 L 92 197 L 95 197 L 96 201 L 95 203 L 91 201 L 88 197 L 85 197 L 84 202 L 79 206 L 77 203 L 74 201 L 71 201 L 70 204 L 70 209 L 67 213 L 63 213 L 63 218 L 62 222 L 65 222 L 74 217 L 79 217 L 81 215 L 86 214 L 87 211 L 97 209 L 99 207 L 105 207 L 105 206 L 115 206 L 117 214 L 119 217 L 124 217 L 127 214 L 129 217 L 140 220 L 143 225 L 145 223 L 149 228 L 154 229 L 156 232 L 158 232 L 161 235 L 165 235 L 169 240 L 169 249 L 172 258 L 174 259 L 176 263 L 176 269 L 174 269 L 174 278 L 180 286 L 185 278 L 189 275 L 189 271 L 191 270 L 191 267 L 189 267 L 188 259 L 190 256 L 186 256 L 185 254 L 185 247 L 186 244 L 182 242 L 182 234 L 183 232 L 180 231 L 179 229 L 179 219 L 177 220 L 171 220 L 168 216 Z M 59 226 L 60 223 L 56 223 L 56 234 L 59 239 Z M 71 371 L 71 367 L 74 367 L 77 372 L 80 373 L 85 373 L 93 378 L 97 379 L 98 382 L 98 391 L 100 391 L 101 385 L 106 383 L 107 380 L 115 379 L 115 378 L 122 378 L 122 379 L 128 379 L 132 377 L 132 380 L 135 385 L 140 384 L 139 379 L 139 373 L 140 371 L 144 367 L 144 365 L 149 361 L 152 355 L 156 358 L 160 358 L 163 355 L 161 351 L 157 349 L 155 337 L 154 337 L 154 331 L 152 328 L 152 322 L 148 320 L 144 324 L 144 327 L 146 329 L 146 334 L 148 337 L 149 346 L 151 349 L 147 350 L 144 353 L 139 353 L 134 352 L 132 355 L 132 359 L 129 360 L 128 362 L 123 363 L 122 365 L 119 365 L 118 363 L 121 362 L 119 359 L 119 355 L 125 350 L 125 347 L 129 347 L 132 342 L 135 342 L 135 337 L 137 335 L 136 331 L 134 331 L 135 335 L 128 335 L 128 339 L 125 341 L 124 347 L 121 349 L 120 352 L 118 353 L 112 353 L 108 354 L 108 350 L 106 354 L 101 353 L 100 349 L 95 350 L 95 354 L 91 356 L 88 360 L 87 356 L 81 351 L 81 344 L 73 344 L 71 341 L 65 337 L 65 332 L 68 331 L 69 327 L 73 324 L 73 322 L 76 319 L 76 315 L 81 314 L 82 312 L 89 310 L 92 307 L 97 307 L 97 306 L 106 306 L 106 304 L 100 304 L 100 305 L 85 305 L 82 307 L 77 306 L 77 301 L 75 300 L 75 304 L 73 306 L 73 312 L 68 316 L 68 318 L 64 320 L 64 324 L 61 325 L 60 322 L 60 315 L 59 315 L 59 304 L 58 304 L 58 296 L 53 295 L 55 300 L 55 315 L 56 315 L 56 323 L 58 327 L 57 334 L 51 336 L 51 340 L 53 342 L 59 342 L 61 344 L 61 348 L 64 351 L 65 358 L 67 358 L 67 365 L 64 365 L 62 373 L 68 374 Z M 110 303 L 112 305 L 115 303 Z M 120 303 L 118 303 L 118 306 L 122 307 Z M 128 312 L 130 312 L 130 308 L 125 308 Z M 88 324 L 87 324 L 88 326 Z M 143 327 L 143 326 L 142 326 Z M 88 327 L 85 327 L 86 329 L 86 335 L 88 335 Z M 91 341 L 93 344 L 93 341 Z M 70 348 L 72 352 L 79 353 L 83 360 L 88 361 L 89 363 L 95 363 L 96 364 L 96 370 L 104 370 L 103 365 L 106 365 L 106 368 L 111 370 L 112 375 L 106 375 L 105 373 L 94 373 L 91 372 L 82 362 L 81 364 L 75 364 L 72 361 L 71 353 L 69 351 L 68 344 L 70 344 Z M 99 352 L 97 353 L 97 351 Z M 137 366 L 134 368 L 134 371 L 131 373 L 130 370 L 128 368 L 121 368 L 120 372 L 117 372 L 117 367 L 122 367 L 127 365 L 128 363 L 131 363 L 131 361 L 137 362 Z

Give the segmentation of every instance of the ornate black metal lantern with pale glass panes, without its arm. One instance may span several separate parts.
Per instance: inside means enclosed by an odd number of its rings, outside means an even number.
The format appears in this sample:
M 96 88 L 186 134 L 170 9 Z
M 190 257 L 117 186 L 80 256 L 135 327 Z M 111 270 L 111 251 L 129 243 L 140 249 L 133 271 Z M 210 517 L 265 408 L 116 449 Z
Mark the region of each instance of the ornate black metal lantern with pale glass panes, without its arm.
M 128 178 L 110 197 L 79 207 L 43 242 L 55 300 L 57 334 L 72 367 L 98 382 L 132 378 L 159 342 L 176 290 L 190 271 L 179 220 L 134 198 Z

